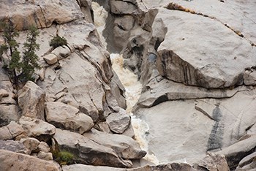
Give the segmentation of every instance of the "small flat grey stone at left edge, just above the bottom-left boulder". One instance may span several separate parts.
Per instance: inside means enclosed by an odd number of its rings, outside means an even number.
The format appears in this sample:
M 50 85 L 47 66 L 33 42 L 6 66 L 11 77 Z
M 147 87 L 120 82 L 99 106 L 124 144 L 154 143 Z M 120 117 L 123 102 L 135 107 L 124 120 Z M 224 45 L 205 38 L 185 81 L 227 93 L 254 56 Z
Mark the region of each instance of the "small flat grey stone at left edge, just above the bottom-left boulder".
M 0 149 L 13 151 L 16 153 L 26 153 L 30 154 L 31 151 L 27 149 L 22 142 L 14 141 L 14 140 L 0 140 Z M 1 164 L 0 164 L 1 165 Z

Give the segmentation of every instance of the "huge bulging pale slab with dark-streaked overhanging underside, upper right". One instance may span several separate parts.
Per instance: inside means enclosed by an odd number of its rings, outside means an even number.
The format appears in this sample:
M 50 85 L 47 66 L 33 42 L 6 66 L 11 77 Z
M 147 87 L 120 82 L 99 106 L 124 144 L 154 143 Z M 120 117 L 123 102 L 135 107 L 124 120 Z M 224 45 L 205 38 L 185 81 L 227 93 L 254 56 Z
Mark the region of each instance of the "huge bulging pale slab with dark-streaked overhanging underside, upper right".
M 159 9 L 153 27 L 159 18 L 167 34 L 157 65 L 167 79 L 205 88 L 237 86 L 243 83 L 244 69 L 255 64 L 255 47 L 217 20 Z

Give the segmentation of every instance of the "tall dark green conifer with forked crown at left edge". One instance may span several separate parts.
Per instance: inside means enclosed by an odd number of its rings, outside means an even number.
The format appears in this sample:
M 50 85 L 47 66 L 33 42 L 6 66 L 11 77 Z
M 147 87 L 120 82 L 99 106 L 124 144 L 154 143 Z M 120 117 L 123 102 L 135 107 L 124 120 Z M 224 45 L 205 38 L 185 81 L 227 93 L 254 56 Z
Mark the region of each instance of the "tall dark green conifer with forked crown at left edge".
M 3 30 L 4 44 L 0 46 L 0 61 L 3 61 L 3 68 L 7 70 L 10 80 L 18 87 L 18 83 L 32 80 L 32 75 L 35 69 L 39 69 L 38 56 L 35 53 L 39 50 L 37 37 L 39 31 L 34 26 L 29 28 L 26 36 L 26 42 L 23 44 L 23 56 L 20 56 L 18 50 L 18 42 L 15 40 L 19 36 L 18 31 L 15 31 L 15 26 L 11 22 L 1 23 Z M 7 59 L 2 58 L 6 53 Z

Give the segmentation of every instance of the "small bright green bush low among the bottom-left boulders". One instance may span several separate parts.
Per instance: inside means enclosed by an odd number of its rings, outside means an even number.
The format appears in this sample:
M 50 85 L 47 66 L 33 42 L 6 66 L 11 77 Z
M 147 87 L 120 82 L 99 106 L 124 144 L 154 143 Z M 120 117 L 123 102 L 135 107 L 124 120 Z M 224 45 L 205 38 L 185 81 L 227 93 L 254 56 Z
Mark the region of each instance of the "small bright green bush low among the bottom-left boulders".
M 74 163 L 74 154 L 67 151 L 59 151 L 57 153 L 53 153 L 53 156 L 55 160 L 61 165 Z

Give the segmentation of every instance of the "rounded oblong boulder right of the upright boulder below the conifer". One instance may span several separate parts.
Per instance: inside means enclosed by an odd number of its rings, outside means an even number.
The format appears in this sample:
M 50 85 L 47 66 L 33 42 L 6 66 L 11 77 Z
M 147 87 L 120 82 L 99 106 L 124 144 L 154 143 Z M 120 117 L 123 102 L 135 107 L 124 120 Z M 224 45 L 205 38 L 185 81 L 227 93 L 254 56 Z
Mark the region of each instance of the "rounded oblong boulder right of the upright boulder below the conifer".
M 80 113 L 78 108 L 61 102 L 47 102 L 45 104 L 46 120 L 61 129 L 69 129 L 73 132 L 83 134 L 88 132 L 94 121 L 84 113 Z

